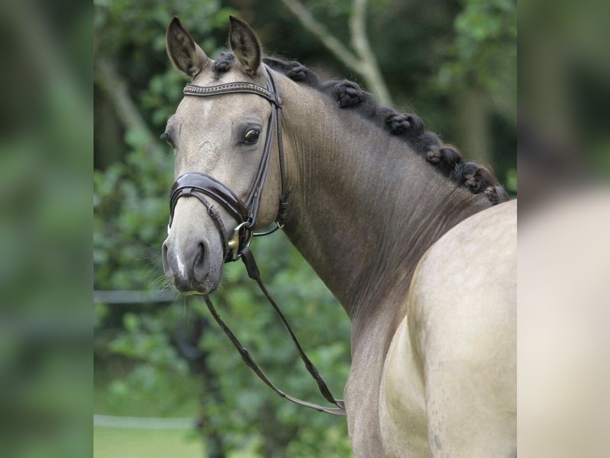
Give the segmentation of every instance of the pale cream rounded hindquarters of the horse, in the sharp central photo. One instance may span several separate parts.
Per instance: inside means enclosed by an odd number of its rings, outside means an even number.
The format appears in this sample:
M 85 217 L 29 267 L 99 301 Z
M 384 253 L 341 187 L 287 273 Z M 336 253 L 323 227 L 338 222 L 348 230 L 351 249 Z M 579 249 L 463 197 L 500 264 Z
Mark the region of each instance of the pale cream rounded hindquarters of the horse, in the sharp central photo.
M 390 451 L 512 453 L 516 249 L 517 203 L 511 201 L 464 220 L 422 256 L 382 377 L 381 429 Z M 425 451 L 414 447 L 423 434 Z

